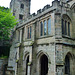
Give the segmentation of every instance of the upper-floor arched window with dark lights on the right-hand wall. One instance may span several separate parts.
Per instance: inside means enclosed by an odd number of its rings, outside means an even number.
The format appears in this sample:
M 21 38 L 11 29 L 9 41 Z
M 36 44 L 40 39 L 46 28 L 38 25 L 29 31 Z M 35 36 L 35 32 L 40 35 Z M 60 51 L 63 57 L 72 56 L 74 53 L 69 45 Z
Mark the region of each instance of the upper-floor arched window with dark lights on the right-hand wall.
M 63 14 L 61 17 L 62 35 L 72 36 L 72 18 L 67 14 Z

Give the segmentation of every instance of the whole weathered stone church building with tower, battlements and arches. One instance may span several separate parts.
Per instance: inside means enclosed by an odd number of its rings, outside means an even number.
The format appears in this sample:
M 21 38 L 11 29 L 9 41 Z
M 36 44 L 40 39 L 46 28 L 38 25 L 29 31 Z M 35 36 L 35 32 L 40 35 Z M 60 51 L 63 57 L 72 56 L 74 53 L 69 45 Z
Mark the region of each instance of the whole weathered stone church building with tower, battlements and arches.
M 7 75 L 75 75 L 75 0 L 54 0 L 32 15 L 30 4 L 10 4 L 19 24 Z

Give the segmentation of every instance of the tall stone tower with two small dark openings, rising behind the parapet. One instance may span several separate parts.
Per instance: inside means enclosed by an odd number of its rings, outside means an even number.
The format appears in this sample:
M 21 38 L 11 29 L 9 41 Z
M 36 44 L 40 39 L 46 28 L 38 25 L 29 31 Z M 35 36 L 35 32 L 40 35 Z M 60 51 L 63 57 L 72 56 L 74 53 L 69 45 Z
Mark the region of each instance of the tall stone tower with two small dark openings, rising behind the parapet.
M 11 0 L 10 8 L 16 19 L 23 20 L 30 15 L 31 0 Z

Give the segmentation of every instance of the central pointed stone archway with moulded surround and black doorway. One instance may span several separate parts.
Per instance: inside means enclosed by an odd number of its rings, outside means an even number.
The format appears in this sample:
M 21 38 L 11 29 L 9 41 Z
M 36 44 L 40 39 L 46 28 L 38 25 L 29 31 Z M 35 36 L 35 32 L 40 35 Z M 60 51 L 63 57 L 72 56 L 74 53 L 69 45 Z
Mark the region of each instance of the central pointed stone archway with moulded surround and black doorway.
M 43 50 L 39 51 L 37 53 L 38 75 L 47 75 L 49 72 L 50 64 L 51 64 L 51 61 L 50 61 L 49 55 L 46 52 L 44 52 Z

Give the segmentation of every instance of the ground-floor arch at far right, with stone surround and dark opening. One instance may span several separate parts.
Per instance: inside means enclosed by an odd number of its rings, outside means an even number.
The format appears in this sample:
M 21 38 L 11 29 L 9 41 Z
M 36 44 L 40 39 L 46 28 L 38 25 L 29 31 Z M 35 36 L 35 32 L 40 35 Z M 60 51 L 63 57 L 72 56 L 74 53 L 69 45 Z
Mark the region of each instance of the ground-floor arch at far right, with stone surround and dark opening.
M 71 52 L 67 52 L 64 58 L 64 73 L 68 75 L 73 75 L 75 72 L 72 67 L 75 67 L 74 54 Z

